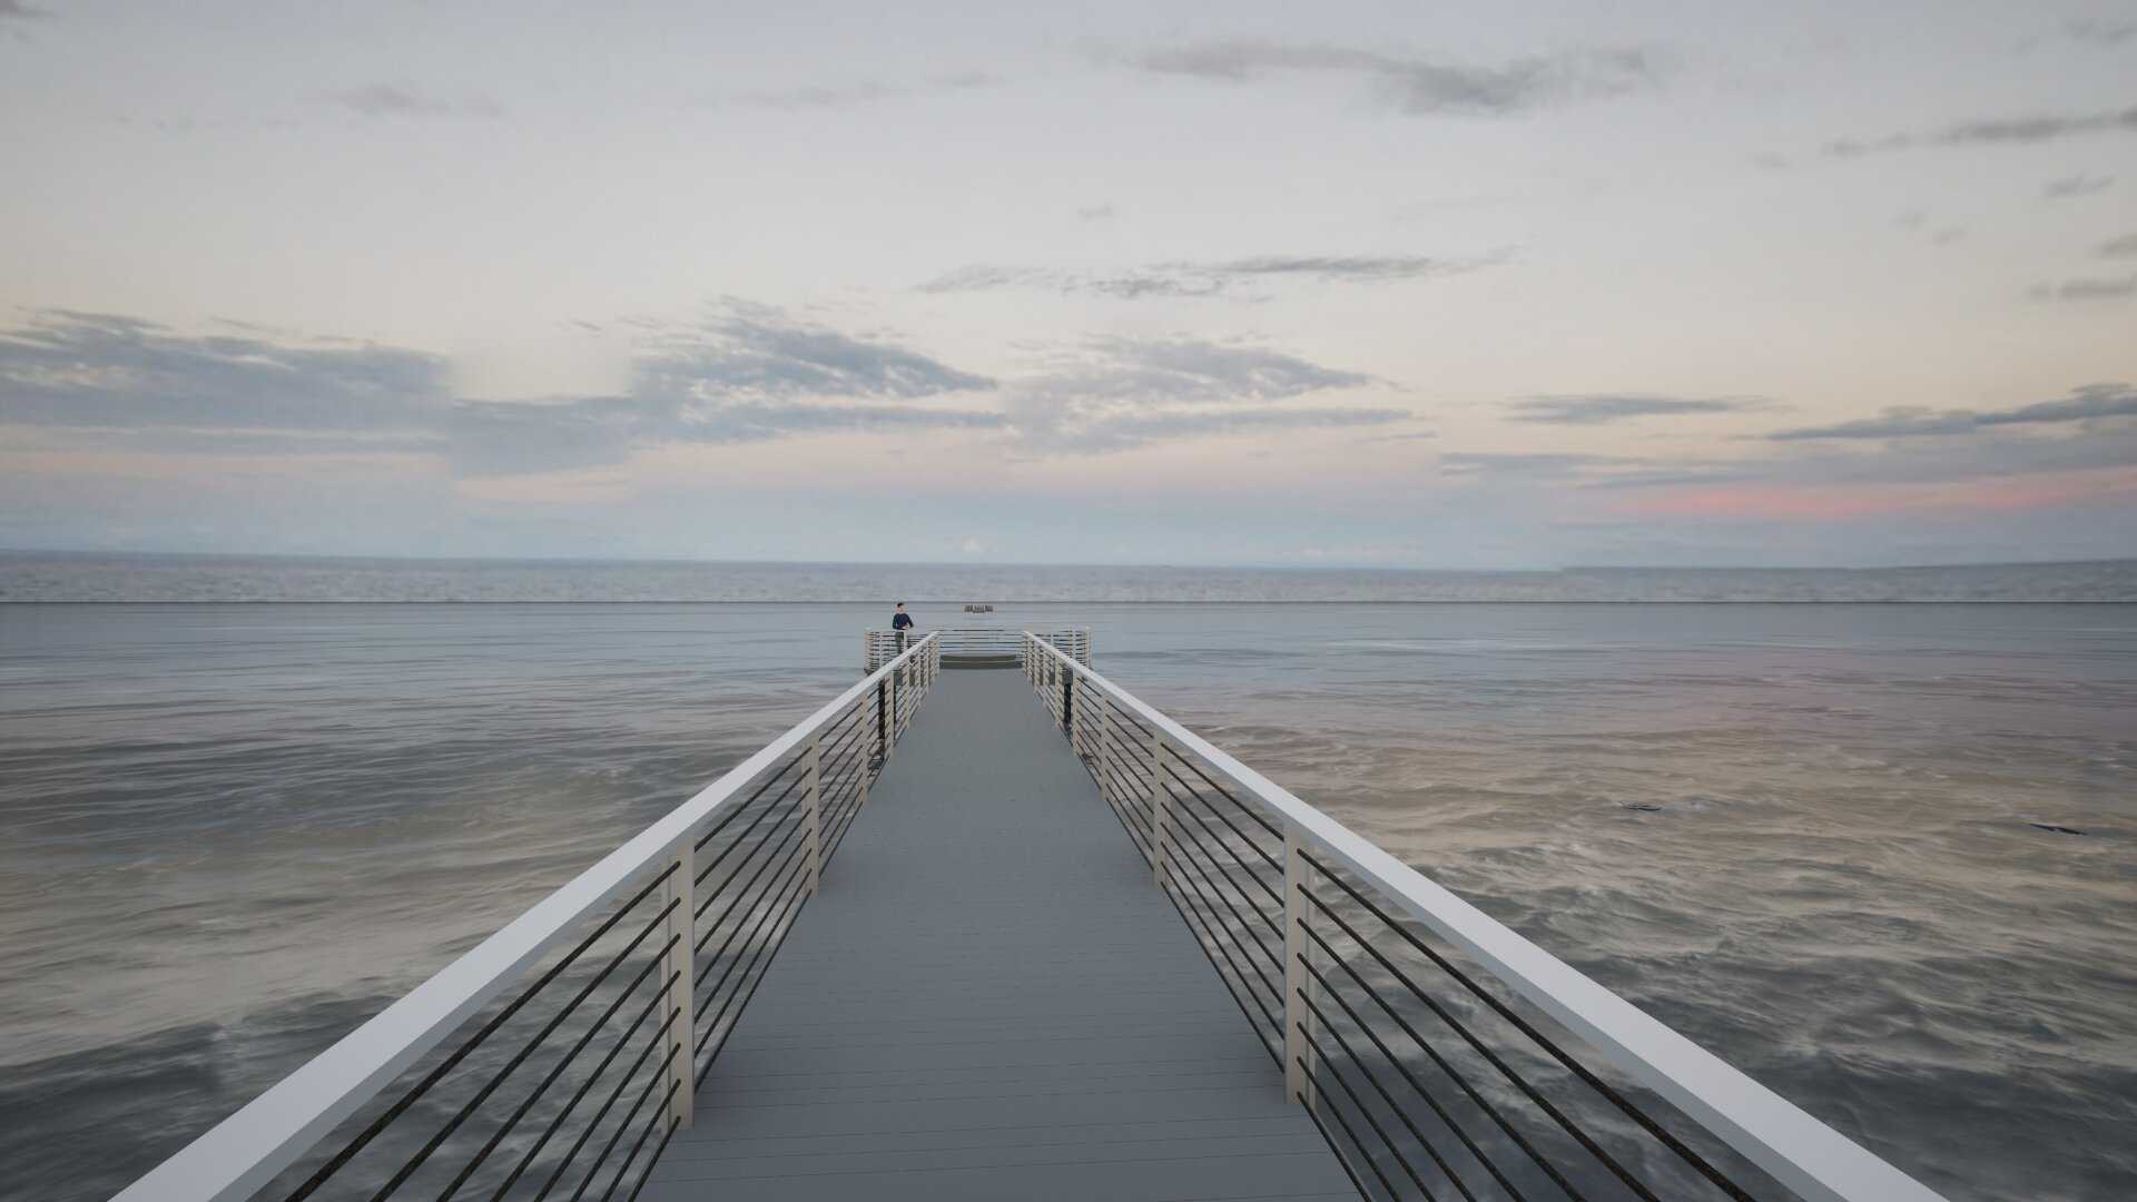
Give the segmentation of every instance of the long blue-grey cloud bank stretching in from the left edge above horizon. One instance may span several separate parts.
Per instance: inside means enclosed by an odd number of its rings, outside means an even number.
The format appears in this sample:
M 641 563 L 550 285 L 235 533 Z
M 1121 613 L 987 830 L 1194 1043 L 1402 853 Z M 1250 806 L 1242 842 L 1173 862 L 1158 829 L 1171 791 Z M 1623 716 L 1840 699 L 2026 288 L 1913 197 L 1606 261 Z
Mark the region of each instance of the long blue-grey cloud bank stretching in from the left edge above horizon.
M 996 430 L 996 411 L 915 404 L 992 387 L 748 306 L 665 334 L 622 396 L 551 400 L 455 398 L 440 355 L 395 346 L 192 336 L 71 310 L 0 332 L 0 423 L 162 453 L 425 451 L 464 475 L 600 466 L 675 443 Z

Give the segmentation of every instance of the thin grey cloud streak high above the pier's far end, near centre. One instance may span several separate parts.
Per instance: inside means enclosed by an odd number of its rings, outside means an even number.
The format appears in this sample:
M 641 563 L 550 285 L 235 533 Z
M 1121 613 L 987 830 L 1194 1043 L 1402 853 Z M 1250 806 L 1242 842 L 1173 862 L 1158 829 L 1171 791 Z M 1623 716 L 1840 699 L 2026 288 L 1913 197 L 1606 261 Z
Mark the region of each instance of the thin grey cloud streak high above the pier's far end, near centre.
M 1391 284 L 1434 280 L 1496 267 L 1511 259 L 1494 250 L 1475 259 L 1430 255 L 1259 255 L 1246 259 L 1173 261 L 1128 272 L 1058 272 L 1045 267 L 957 267 L 919 284 L 923 293 L 977 293 L 992 289 L 1039 289 L 1064 295 L 1214 297 L 1269 280 L 1312 280 L 1333 284 Z

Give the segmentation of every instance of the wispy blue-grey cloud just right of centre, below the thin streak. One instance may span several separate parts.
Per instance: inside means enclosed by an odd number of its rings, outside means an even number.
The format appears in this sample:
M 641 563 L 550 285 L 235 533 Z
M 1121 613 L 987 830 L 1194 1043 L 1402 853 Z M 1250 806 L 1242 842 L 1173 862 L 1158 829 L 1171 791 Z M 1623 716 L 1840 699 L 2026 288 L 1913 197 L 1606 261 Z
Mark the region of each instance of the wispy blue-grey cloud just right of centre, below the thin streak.
M 1105 453 L 1158 441 L 1408 421 L 1404 409 L 1269 404 L 1378 383 L 1297 355 L 1177 338 L 1096 338 L 1004 391 L 1015 443 Z

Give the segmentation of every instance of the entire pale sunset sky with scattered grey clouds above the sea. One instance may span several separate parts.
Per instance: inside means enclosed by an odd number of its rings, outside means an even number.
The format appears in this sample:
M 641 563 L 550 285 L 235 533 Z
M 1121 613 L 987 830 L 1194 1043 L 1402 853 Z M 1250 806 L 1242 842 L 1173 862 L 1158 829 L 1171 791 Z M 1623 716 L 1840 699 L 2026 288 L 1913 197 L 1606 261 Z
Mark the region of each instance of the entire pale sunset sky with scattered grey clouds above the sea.
M 2137 0 L 0 0 L 0 548 L 2137 556 Z

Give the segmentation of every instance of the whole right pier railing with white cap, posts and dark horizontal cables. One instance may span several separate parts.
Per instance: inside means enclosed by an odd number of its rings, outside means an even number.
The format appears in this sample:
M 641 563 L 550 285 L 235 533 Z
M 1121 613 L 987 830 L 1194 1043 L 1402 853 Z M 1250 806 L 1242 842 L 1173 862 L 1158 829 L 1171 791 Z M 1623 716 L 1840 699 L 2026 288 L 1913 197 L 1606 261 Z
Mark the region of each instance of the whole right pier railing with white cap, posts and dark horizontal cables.
M 1024 674 L 1366 1198 L 1938 1196 L 1026 633 Z

